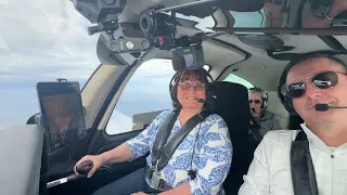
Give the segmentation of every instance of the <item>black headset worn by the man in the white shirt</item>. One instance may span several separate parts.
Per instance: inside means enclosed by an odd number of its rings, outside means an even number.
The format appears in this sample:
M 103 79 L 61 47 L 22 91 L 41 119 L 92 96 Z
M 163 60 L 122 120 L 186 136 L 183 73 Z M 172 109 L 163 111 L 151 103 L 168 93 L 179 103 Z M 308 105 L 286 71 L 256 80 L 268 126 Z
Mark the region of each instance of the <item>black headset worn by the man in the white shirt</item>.
M 293 107 L 293 100 L 287 95 L 286 92 L 286 76 L 290 72 L 290 69 L 295 66 L 296 64 L 299 64 L 306 60 L 309 58 L 319 58 L 319 57 L 326 57 L 334 62 L 337 62 L 338 64 L 342 64 L 346 67 L 347 65 L 342 61 L 340 58 L 336 57 L 335 55 L 347 55 L 347 51 L 343 50 L 319 50 L 319 51 L 312 51 L 307 53 L 298 53 L 297 56 L 295 56 L 283 69 L 282 75 L 280 77 L 280 80 L 278 82 L 278 95 L 285 107 L 285 109 L 290 113 L 292 116 L 297 116 L 298 114 L 295 112 Z

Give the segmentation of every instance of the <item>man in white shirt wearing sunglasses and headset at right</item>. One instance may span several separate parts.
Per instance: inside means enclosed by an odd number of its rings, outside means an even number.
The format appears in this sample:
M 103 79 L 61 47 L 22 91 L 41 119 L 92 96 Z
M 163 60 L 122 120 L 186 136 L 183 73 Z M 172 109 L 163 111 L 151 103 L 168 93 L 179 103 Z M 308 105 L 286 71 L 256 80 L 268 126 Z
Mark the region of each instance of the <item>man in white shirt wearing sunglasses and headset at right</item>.
M 305 133 L 269 131 L 255 151 L 239 195 L 347 194 L 347 108 L 332 108 L 347 106 L 347 66 L 333 53 L 300 54 L 284 69 L 279 96 L 291 115 L 303 118 Z M 307 153 L 291 157 L 298 133 L 307 136 Z M 313 170 L 306 162 L 293 166 L 306 157 Z M 295 180 L 298 174 L 304 179 Z

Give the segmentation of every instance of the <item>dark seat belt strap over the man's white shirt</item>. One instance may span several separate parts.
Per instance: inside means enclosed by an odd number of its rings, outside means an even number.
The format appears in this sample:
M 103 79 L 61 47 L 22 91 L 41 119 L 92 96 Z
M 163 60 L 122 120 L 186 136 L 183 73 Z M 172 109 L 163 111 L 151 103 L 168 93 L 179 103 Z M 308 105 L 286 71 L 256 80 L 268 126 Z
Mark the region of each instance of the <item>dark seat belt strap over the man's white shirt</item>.
M 305 131 L 300 131 L 291 148 L 291 171 L 294 195 L 318 195 L 318 186 L 309 142 Z

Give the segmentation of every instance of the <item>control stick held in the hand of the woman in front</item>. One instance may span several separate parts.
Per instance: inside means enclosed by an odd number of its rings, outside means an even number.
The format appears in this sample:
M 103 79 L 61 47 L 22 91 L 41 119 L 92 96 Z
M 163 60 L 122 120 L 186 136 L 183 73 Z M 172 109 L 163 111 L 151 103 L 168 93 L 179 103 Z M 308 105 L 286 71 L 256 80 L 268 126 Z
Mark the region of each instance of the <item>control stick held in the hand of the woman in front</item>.
M 73 180 L 76 180 L 80 177 L 87 177 L 88 172 L 93 168 L 93 161 L 91 160 L 86 160 L 86 161 L 82 161 L 81 164 L 77 165 L 76 166 L 76 172 L 80 176 L 77 176 L 77 174 L 70 174 L 66 178 L 62 178 L 62 179 L 59 179 L 59 180 L 55 180 L 55 181 L 52 181 L 52 182 L 49 182 L 47 183 L 47 188 L 50 188 L 52 186 L 56 186 L 56 185 L 60 185 L 60 184 L 63 184 L 63 183 L 66 183 L 68 181 L 73 181 Z

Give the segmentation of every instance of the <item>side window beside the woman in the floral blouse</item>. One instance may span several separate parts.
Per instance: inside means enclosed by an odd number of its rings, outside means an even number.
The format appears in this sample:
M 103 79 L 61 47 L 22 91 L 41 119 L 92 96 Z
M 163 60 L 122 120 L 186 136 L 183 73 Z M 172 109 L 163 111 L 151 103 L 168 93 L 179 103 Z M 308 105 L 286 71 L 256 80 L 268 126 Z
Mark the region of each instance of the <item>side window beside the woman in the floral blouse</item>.
M 145 128 L 163 109 L 172 108 L 169 82 L 175 74 L 170 60 L 143 63 L 125 87 L 106 126 L 107 134 Z

